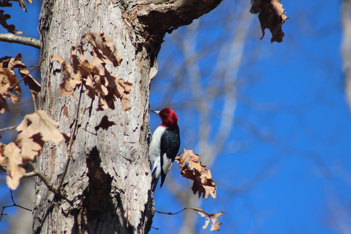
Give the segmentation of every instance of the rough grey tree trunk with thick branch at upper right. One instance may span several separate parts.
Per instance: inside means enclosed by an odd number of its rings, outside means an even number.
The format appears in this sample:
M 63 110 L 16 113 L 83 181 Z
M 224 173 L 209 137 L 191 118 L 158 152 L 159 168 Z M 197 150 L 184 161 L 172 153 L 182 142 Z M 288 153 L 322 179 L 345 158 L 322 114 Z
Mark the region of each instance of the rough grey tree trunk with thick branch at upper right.
M 79 125 L 73 142 L 75 161 L 68 166 L 57 198 L 44 183 L 35 181 L 34 233 L 147 233 L 153 217 L 151 173 L 145 124 L 149 120 L 150 81 L 157 72 L 156 57 L 163 36 L 211 11 L 221 0 L 74 1 L 44 0 L 39 34 L 42 42 L 40 108 L 69 134 L 77 100 L 58 94 L 61 67 L 49 59 L 69 59 L 71 46 L 83 34 L 101 32 L 116 43 L 123 58 L 111 72 L 133 83 L 132 108 L 96 111 L 98 100 L 82 95 Z M 110 68 L 108 68 L 110 69 Z M 78 95 L 79 90 L 76 90 Z M 95 131 L 102 116 L 116 125 Z M 96 132 L 96 134 L 95 134 Z M 67 144 L 46 144 L 37 167 L 58 185 L 67 162 Z

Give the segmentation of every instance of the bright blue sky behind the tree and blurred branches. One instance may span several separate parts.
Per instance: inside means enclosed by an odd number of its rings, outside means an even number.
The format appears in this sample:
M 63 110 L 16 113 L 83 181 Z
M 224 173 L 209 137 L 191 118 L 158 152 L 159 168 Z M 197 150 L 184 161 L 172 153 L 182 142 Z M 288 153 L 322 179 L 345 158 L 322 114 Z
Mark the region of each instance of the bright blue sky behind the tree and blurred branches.
M 281 3 L 290 17 L 283 25 L 282 43 L 271 44 L 267 29 L 264 39 L 259 40 L 261 29 L 257 15 L 250 19 L 237 74 L 243 84 L 237 87 L 240 98 L 235 125 L 210 168 L 218 185 L 217 199 L 203 201 L 200 208 L 209 213 L 226 212 L 219 218 L 223 222 L 221 233 L 342 233 L 336 220 L 351 228 L 351 121 L 340 58 L 340 1 L 311 0 L 307 4 L 302 0 L 285 0 Z M 14 13 L 10 13 L 12 19 L 8 22 L 23 31 L 22 35 L 38 38 L 39 7 L 26 5 L 27 13 L 12 7 Z M 217 38 L 225 32 L 221 27 L 231 27 L 231 23 L 224 22 L 225 17 L 240 7 L 224 1 L 200 19 L 199 34 L 194 36 L 197 49 L 210 48 L 198 61 L 204 87 L 216 80 L 208 74 L 213 72 L 213 61 L 219 53 Z M 6 8 L 5 13 L 9 13 L 9 9 Z M 15 19 L 14 14 L 19 18 Z M 232 22 L 233 27 L 237 24 Z M 201 113 L 191 109 L 191 105 L 197 103 L 185 95 L 189 88 L 186 78 L 192 74 L 184 74 L 184 87 L 167 101 L 169 106 L 160 101 L 169 94 L 160 89 L 167 90 L 164 87 L 170 86 L 179 74 L 177 63 L 184 60 L 184 54 L 174 38 L 176 33 L 188 35 L 185 34 L 187 27 L 165 37 L 158 55 L 159 73 L 151 83 L 150 108 L 174 108 L 182 134 L 181 148 L 193 148 L 196 153 L 204 154 L 189 136 L 202 127 L 196 121 Z M 0 33 L 5 32 L 0 28 Z M 1 56 L 21 52 L 26 65 L 35 65 L 38 61 L 38 49 L 4 42 L 0 42 L 0 47 Z M 226 61 L 222 62 L 229 66 Z M 219 97 L 212 106 L 209 123 L 213 134 L 218 128 L 216 113 L 220 113 L 221 108 Z M 158 116 L 151 113 L 151 129 L 159 124 Z M 172 178 L 178 173 L 177 167 L 175 164 L 172 168 Z M 165 183 L 170 178 L 167 176 Z M 177 183 L 190 190 L 184 178 L 176 178 Z M 243 185 L 250 186 L 240 193 L 238 189 Z M 0 189 L 3 191 L 6 187 Z M 2 194 L 0 201 L 4 201 Z M 184 207 L 169 193 L 167 186 L 158 187 L 154 198 L 155 208 L 160 211 L 176 212 Z M 8 202 L 1 202 L 0 206 Z M 178 233 L 183 215 L 156 214 L 153 226 L 159 230 L 151 233 Z M 202 230 L 203 222 L 204 218 L 198 219 L 197 232 L 210 233 L 209 228 Z M 6 222 L 0 223 L 0 230 L 4 225 Z

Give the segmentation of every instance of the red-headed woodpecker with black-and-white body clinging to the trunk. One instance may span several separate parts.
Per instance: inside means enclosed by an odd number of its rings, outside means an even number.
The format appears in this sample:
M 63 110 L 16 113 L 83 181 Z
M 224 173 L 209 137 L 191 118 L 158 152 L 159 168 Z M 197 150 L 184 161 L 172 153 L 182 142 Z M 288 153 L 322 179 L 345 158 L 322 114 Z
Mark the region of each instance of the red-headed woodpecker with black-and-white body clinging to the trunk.
M 152 112 L 158 114 L 162 120 L 162 124 L 152 135 L 149 147 L 150 161 L 153 163 L 151 189 L 154 192 L 160 175 L 162 187 L 166 174 L 173 165 L 180 147 L 180 136 L 176 112 L 170 108 Z

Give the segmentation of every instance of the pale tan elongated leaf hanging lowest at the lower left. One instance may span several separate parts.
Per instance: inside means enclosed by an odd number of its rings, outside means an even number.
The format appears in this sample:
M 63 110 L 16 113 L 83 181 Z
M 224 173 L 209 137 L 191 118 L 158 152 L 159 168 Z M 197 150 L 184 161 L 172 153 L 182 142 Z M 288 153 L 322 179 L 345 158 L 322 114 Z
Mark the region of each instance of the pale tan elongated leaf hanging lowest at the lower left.
M 26 170 L 20 166 L 23 163 L 20 152 L 21 149 L 14 142 L 8 143 L 5 147 L 4 154 L 8 159 L 6 183 L 11 189 L 18 187 L 20 179 L 26 173 Z

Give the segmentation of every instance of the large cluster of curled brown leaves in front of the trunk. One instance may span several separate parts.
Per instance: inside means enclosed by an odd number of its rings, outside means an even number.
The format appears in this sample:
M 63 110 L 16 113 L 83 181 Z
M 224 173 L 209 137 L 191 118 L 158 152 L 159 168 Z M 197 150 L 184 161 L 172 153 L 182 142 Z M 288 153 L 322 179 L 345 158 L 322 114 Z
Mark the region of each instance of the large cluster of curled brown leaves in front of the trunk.
M 59 93 L 63 96 L 74 95 L 76 85 L 83 84 L 87 89 L 86 94 L 94 99 L 99 98 L 99 110 L 114 109 L 115 97 L 120 98 L 122 108 L 127 111 L 131 108 L 127 100 L 130 98 L 132 83 L 118 79 L 105 68 L 106 64 L 117 67 L 122 59 L 116 49 L 113 40 L 103 33 L 87 33 L 81 38 L 85 39 L 92 47 L 90 54 L 92 61 L 85 58 L 81 46 L 72 47 L 69 62 L 60 56 L 52 55 L 51 58 L 62 66 L 64 79 L 62 80 Z M 77 55 L 79 52 L 79 56 Z M 101 52 L 100 52 L 101 51 Z

